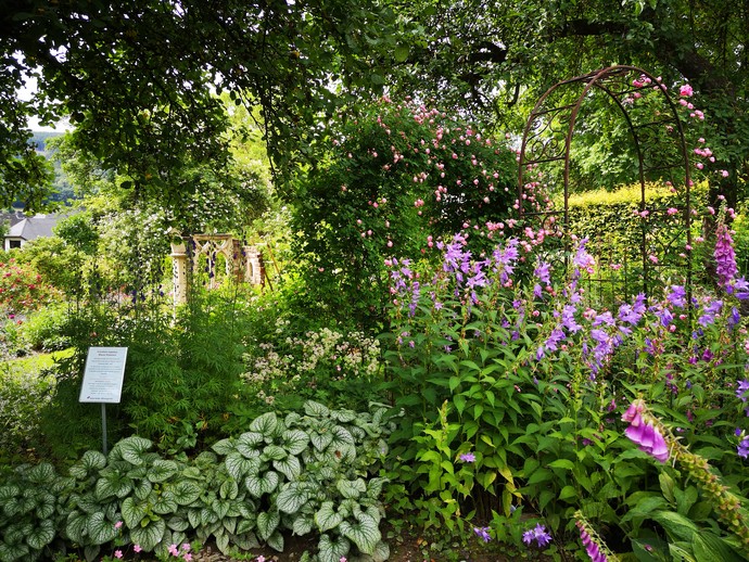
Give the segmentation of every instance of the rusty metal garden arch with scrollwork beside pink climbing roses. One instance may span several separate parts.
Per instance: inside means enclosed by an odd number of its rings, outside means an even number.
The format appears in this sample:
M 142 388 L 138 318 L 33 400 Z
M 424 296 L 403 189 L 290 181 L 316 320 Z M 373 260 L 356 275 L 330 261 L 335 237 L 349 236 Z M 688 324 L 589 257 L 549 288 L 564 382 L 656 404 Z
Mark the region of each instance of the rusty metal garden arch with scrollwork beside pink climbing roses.
M 634 77 L 634 79 L 632 79 Z M 642 84 L 640 84 L 642 82 Z M 569 91 L 570 87 L 580 87 L 583 89 L 576 99 L 571 101 L 566 101 L 563 98 L 566 91 Z M 524 182 L 524 173 L 530 171 L 534 167 L 541 166 L 547 163 L 563 162 L 563 229 L 564 229 L 564 247 L 568 250 L 566 254 L 569 254 L 569 182 L 570 182 L 570 149 L 572 144 L 572 138 L 574 133 L 575 122 L 577 119 L 581 106 L 584 100 L 589 95 L 591 91 L 596 88 L 605 92 L 615 105 L 622 112 L 624 119 L 630 129 L 632 139 L 634 141 L 635 151 L 638 159 L 638 177 L 640 183 L 640 212 L 645 209 L 646 205 L 646 171 L 653 170 L 673 170 L 675 168 L 681 168 L 683 166 L 684 170 L 684 208 L 683 220 L 686 230 L 686 244 L 691 247 L 691 201 L 690 201 L 690 174 L 689 174 L 689 157 L 686 148 L 686 142 L 684 139 L 684 130 L 682 127 L 682 122 L 678 118 L 676 105 L 671 100 L 665 87 L 663 87 L 660 81 L 650 75 L 648 72 L 627 65 L 615 65 L 610 66 L 600 71 L 588 73 L 582 76 L 570 78 L 557 82 L 555 86 L 549 88 L 536 102 L 533 111 L 531 112 L 525 128 L 523 130 L 522 144 L 519 155 L 519 166 L 518 166 L 518 212 L 520 218 L 524 215 L 558 215 L 558 210 L 531 210 L 530 213 L 525 209 L 524 195 L 525 188 L 528 183 Z M 639 124 L 633 122 L 633 116 L 626 107 L 624 100 L 632 100 L 632 97 L 640 98 L 646 93 L 659 91 L 662 95 L 662 100 L 665 102 L 669 115 L 662 115 L 656 122 Z M 561 92 L 562 98 L 560 98 L 559 105 L 554 105 L 551 107 L 545 107 L 548 101 L 553 99 L 555 94 Z M 555 129 L 555 119 L 557 122 L 557 127 Z M 564 131 L 564 127 L 567 130 Z M 657 165 L 646 166 L 646 157 L 651 157 L 652 154 L 646 152 L 647 142 L 643 143 L 642 137 L 647 132 L 647 127 L 672 127 L 677 133 L 678 142 L 678 153 L 681 157 L 678 162 L 662 162 Z M 534 131 L 535 130 L 535 131 Z M 652 131 L 657 129 L 653 128 Z M 556 135 L 564 135 L 563 144 L 561 144 Z M 655 148 L 658 148 L 657 145 Z M 653 149 L 653 146 L 651 146 Z M 529 153 L 532 157 L 529 157 Z M 665 153 L 661 152 L 661 154 Z M 674 186 L 675 187 L 675 186 Z M 646 247 L 646 230 L 643 228 L 642 235 L 642 259 L 643 259 L 643 271 L 644 271 L 644 290 L 647 293 L 648 285 L 648 271 L 650 269 L 650 264 L 648 264 L 647 258 L 647 247 Z M 690 267 L 690 253 L 687 252 L 687 284 L 690 285 L 691 281 L 691 267 Z

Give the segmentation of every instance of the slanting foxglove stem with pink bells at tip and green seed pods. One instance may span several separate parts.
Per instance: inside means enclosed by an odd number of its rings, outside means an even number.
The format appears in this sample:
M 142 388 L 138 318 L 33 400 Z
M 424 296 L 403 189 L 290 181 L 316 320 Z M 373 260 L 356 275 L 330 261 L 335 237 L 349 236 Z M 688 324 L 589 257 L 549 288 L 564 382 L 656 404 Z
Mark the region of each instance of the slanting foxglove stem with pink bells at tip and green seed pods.
M 718 513 L 718 518 L 740 539 L 744 552 L 749 554 L 749 522 L 740 511 L 741 503 L 735 495 L 728 491 L 728 486 L 722 484 L 721 478 L 713 472 L 707 459 L 682 445 L 671 430 L 650 412 L 642 399 L 633 401 L 622 416 L 622 420 L 630 422 L 637 420 L 637 418 L 642 423 L 652 426 L 655 432 L 662 436 L 674 461 L 678 462 L 695 478 Z

